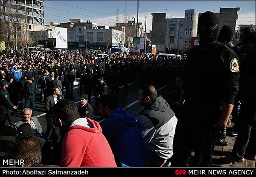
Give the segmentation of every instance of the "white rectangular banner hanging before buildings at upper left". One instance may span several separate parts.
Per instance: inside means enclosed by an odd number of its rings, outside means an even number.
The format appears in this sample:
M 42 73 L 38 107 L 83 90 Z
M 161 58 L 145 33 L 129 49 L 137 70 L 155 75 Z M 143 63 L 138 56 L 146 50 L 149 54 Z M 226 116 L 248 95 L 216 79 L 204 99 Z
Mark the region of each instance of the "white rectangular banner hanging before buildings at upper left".
M 67 48 L 67 28 L 55 27 L 56 47 Z

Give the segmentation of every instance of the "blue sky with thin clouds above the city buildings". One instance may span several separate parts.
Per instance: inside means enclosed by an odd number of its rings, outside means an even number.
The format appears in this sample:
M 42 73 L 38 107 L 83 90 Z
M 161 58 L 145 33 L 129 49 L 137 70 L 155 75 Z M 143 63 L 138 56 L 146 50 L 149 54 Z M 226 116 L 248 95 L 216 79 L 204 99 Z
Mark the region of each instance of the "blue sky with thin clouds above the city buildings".
M 220 7 L 240 7 L 236 26 L 239 24 L 256 24 L 255 0 L 140 0 L 139 22 L 145 24 L 146 31 L 152 29 L 151 13 L 166 13 L 167 18 L 184 18 L 185 9 L 195 9 L 196 20 L 199 12 L 219 12 Z M 98 25 L 113 26 L 119 11 L 119 22 L 136 18 L 137 0 L 45 0 L 45 24 L 50 22 L 68 22 L 70 19 L 90 20 Z M 119 10 L 118 10 L 119 9 Z

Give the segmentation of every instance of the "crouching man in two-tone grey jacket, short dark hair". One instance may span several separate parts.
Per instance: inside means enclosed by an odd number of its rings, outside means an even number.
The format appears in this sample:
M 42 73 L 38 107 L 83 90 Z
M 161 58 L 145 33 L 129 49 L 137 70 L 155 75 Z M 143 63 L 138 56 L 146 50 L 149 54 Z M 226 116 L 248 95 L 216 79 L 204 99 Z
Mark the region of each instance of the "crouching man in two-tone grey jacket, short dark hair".
M 151 167 L 162 167 L 172 157 L 173 137 L 177 124 L 175 113 L 163 97 L 157 97 L 153 85 L 144 85 L 138 92 L 144 109 L 137 117 L 138 126 L 151 151 Z

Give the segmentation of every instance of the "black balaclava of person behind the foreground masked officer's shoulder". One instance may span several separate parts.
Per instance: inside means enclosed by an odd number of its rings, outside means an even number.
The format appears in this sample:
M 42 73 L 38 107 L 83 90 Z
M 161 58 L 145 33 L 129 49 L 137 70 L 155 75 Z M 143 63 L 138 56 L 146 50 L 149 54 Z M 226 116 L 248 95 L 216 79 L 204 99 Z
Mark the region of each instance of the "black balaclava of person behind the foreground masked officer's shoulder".
M 221 42 L 222 44 L 226 45 L 230 42 L 230 40 L 232 39 L 234 35 L 234 31 L 232 30 L 231 26 L 229 25 L 224 25 L 221 30 L 220 33 L 217 37 L 217 41 Z

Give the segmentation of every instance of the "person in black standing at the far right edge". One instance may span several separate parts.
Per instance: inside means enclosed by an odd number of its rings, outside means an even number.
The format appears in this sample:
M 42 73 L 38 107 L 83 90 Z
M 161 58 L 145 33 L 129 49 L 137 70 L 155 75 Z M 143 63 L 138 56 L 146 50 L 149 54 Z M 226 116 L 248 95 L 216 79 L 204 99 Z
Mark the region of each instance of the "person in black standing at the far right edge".
M 238 136 L 232 152 L 225 157 L 226 163 L 243 162 L 244 157 L 255 160 L 255 121 L 256 121 L 256 33 L 252 28 L 243 28 L 243 46 L 241 55 L 240 93 L 241 107 L 237 130 Z M 249 145 L 249 146 L 248 146 Z M 250 146 L 252 145 L 252 146 Z

